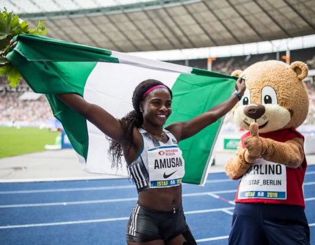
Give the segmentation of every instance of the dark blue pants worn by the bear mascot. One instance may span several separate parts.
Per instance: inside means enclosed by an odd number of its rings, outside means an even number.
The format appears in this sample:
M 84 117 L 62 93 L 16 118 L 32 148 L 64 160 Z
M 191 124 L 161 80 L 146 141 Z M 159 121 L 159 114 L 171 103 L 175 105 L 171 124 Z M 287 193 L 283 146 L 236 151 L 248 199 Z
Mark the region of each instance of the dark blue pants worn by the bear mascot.
M 302 206 L 236 203 L 229 245 L 309 245 Z

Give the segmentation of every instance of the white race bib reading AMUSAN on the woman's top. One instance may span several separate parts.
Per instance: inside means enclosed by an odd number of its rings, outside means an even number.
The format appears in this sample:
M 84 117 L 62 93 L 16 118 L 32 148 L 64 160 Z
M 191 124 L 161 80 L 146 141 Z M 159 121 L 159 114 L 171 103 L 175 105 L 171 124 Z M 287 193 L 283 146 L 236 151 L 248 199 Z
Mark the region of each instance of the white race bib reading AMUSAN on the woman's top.
M 182 183 L 185 164 L 177 145 L 148 149 L 151 188 L 174 187 Z

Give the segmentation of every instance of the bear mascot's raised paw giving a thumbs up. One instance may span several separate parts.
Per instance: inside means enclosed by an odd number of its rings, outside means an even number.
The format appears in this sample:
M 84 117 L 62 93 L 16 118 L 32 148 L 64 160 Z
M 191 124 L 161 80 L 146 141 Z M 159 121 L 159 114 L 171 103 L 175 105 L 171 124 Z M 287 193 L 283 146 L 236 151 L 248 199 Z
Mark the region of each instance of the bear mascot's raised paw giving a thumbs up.
M 246 162 L 254 162 L 261 156 L 263 143 L 258 135 L 258 124 L 256 122 L 250 124 L 250 136 L 244 140 L 244 145 L 247 149 L 244 156 Z

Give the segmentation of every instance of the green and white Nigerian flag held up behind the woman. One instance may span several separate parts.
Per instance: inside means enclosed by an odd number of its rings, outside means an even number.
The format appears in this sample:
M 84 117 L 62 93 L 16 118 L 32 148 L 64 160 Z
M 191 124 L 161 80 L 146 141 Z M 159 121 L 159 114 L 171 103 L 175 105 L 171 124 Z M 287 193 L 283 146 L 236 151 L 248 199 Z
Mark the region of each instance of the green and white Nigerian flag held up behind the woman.
M 109 142 L 101 131 L 67 107 L 54 94 L 77 93 L 116 118 L 133 109 L 138 83 L 156 79 L 171 87 L 173 103 L 167 124 L 189 120 L 231 96 L 236 78 L 206 70 L 152 61 L 129 54 L 78 45 L 43 36 L 14 37 L 7 56 L 36 93 L 45 94 L 75 151 L 91 173 L 127 176 L 127 168 L 111 168 Z M 183 182 L 204 184 L 223 119 L 180 142 L 185 160 Z M 125 164 L 124 164 L 125 166 Z

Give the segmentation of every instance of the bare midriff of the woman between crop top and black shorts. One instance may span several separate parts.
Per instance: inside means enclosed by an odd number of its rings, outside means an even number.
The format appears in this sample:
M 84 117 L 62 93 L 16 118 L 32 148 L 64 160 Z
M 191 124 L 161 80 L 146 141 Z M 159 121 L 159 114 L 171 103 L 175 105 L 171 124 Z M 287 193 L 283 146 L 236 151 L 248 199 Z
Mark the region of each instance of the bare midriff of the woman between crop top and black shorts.
M 139 193 L 142 206 L 157 211 L 173 211 L 182 202 L 182 184 L 177 187 L 149 189 Z

